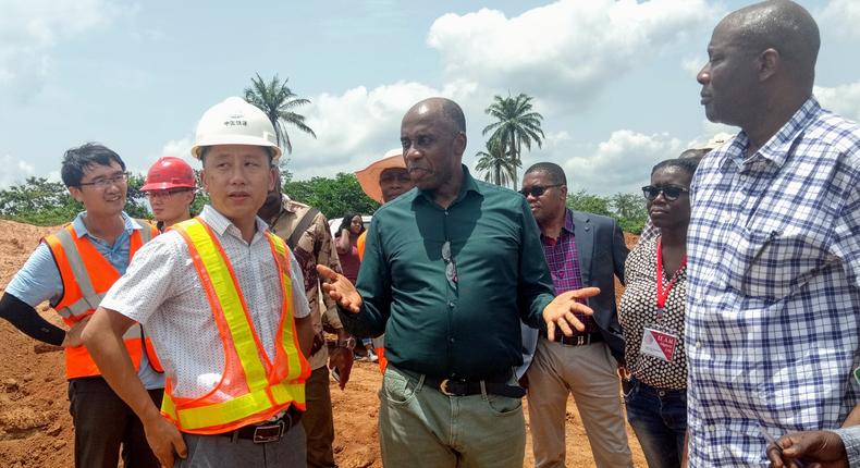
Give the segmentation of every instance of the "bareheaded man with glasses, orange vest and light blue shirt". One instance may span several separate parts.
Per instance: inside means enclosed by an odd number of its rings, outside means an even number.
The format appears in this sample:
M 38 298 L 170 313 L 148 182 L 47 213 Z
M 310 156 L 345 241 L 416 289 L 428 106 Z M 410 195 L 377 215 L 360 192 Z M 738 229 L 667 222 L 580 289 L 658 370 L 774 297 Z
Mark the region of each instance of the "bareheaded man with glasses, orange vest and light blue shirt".
M 123 212 L 128 189 L 116 152 L 86 144 L 65 152 L 62 180 L 86 211 L 47 236 L 15 274 L 0 299 L 0 316 L 48 344 L 62 345 L 75 427 L 75 466 L 115 468 L 122 447 L 125 467 L 158 467 L 140 420 L 99 375 L 81 344 L 81 330 L 131 258 L 157 234 Z M 70 327 L 66 333 L 34 307 L 50 300 Z M 160 404 L 164 377 L 139 324 L 131 322 L 118 345 L 128 355 L 128 379 L 150 405 Z

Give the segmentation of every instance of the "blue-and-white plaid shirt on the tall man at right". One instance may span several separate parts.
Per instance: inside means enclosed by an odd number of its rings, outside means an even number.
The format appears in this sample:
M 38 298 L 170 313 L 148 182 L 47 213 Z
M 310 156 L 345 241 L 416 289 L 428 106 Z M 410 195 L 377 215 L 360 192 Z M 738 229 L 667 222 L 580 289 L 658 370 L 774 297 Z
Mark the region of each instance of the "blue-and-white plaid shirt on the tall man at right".
M 690 466 L 764 466 L 760 426 L 840 426 L 858 402 L 860 127 L 810 98 L 758 152 L 741 132 L 692 183 Z

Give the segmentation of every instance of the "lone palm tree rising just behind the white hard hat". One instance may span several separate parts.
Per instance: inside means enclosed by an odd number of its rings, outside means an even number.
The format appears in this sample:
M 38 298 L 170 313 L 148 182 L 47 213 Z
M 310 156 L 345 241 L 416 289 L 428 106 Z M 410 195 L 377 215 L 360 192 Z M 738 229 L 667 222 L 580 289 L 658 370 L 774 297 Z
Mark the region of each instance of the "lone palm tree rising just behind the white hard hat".
M 294 125 L 314 138 L 317 137 L 317 134 L 305 124 L 304 115 L 293 112 L 293 109 L 299 106 L 309 104 L 310 100 L 296 96 L 286 86 L 287 81 L 290 78 L 280 81 L 275 74 L 272 76 L 272 81 L 267 84 L 257 73 L 256 78 L 250 78 L 251 86 L 245 88 L 245 100 L 266 112 L 274 126 L 278 146 L 286 149 L 287 153 L 292 153 L 293 143 L 290 141 L 290 135 L 286 133 L 286 124 Z

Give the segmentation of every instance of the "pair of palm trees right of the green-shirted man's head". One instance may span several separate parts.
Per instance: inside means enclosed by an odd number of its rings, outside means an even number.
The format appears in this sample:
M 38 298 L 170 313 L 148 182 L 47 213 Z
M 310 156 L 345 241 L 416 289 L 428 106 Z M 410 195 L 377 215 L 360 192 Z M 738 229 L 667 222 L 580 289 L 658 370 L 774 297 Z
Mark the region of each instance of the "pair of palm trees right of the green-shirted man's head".
M 523 167 L 523 147 L 531 150 L 532 143 L 541 147 L 543 115 L 532 111 L 531 99 L 523 93 L 506 98 L 495 96 L 486 109 L 496 120 L 483 128 L 483 135 L 492 132 L 487 150 L 475 155 L 479 158 L 475 169 L 486 171 L 486 181 L 501 186 L 511 184 L 516 189 L 517 169 Z

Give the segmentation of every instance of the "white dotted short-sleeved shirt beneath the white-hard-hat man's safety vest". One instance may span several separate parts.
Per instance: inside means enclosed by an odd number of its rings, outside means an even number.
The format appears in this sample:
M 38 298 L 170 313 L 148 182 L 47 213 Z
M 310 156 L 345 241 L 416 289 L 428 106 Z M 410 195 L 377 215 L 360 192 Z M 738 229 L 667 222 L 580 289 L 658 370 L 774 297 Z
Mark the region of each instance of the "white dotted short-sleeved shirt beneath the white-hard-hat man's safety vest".
M 266 223 L 257 218 L 257 231 L 247 243 L 238 227 L 213 208 L 204 207 L 199 218 L 221 243 L 254 329 L 266 354 L 273 357 L 283 295 L 278 268 L 263 235 Z M 304 279 L 294 255 L 291 255 L 290 280 L 293 316 L 307 317 Z M 223 344 L 188 245 L 180 233 L 168 231 L 144 245 L 101 306 L 145 325 L 177 396 L 200 396 L 221 381 Z

